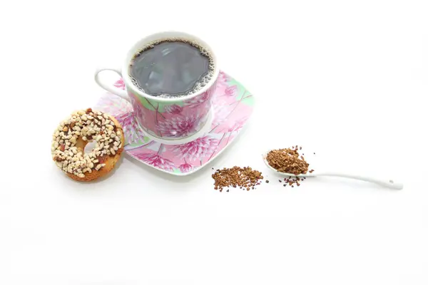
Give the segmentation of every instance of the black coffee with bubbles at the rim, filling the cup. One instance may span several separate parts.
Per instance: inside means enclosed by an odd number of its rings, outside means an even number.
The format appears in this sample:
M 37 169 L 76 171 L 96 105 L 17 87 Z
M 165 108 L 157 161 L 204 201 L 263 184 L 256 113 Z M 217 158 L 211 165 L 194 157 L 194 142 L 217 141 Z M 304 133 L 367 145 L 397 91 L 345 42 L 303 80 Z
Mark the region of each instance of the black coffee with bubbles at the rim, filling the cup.
M 180 97 L 197 92 L 213 77 L 213 57 L 198 43 L 168 38 L 148 44 L 133 57 L 133 84 L 152 96 Z

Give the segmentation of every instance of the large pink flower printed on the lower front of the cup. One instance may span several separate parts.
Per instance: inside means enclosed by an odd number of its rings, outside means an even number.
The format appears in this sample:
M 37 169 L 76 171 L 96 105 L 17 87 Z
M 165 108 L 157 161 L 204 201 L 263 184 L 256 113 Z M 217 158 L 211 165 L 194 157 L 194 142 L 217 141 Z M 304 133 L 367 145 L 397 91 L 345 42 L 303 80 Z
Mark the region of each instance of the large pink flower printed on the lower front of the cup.
M 165 137 L 185 137 L 195 132 L 200 123 L 198 115 L 176 116 L 158 122 L 158 131 Z

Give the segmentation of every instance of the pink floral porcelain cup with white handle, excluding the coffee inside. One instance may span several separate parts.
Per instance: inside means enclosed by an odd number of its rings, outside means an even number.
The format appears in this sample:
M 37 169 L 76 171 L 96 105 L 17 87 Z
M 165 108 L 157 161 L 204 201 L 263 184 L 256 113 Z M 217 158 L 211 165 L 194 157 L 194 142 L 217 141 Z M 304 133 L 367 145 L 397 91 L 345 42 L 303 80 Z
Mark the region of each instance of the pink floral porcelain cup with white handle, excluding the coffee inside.
M 210 54 L 213 73 L 209 80 L 206 79 L 198 90 L 188 95 L 177 97 L 153 96 L 136 86 L 135 81 L 130 76 L 130 65 L 136 53 L 141 48 L 153 42 L 168 40 L 170 38 L 198 43 Z M 124 90 L 116 88 L 113 84 L 104 83 L 100 80 L 101 71 L 114 71 L 123 79 Z M 202 39 L 188 33 L 178 31 L 165 31 L 154 33 L 142 38 L 135 43 L 125 56 L 121 67 L 110 66 L 107 68 L 97 68 L 95 81 L 101 88 L 110 93 L 116 94 L 128 100 L 134 111 L 134 115 L 149 135 L 162 138 L 163 140 L 179 140 L 188 138 L 197 133 L 208 120 L 212 97 L 215 92 L 216 81 L 219 69 L 215 54 L 212 48 Z

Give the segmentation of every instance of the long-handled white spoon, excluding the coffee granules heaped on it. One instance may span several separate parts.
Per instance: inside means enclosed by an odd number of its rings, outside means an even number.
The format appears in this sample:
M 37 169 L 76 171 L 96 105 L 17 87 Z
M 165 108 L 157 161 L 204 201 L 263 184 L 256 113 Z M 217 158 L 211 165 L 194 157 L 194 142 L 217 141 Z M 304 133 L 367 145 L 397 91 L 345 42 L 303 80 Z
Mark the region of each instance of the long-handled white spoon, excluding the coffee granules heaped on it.
M 380 180 L 380 179 L 375 179 L 372 177 L 352 175 L 352 174 L 347 174 L 347 173 L 342 173 L 342 172 L 317 172 L 317 171 L 314 171 L 312 173 L 307 172 L 306 174 L 300 174 L 300 175 L 294 175 L 292 173 L 279 172 L 279 171 L 275 170 L 275 168 L 273 168 L 272 166 L 269 165 L 269 162 L 267 162 L 267 159 L 266 159 L 266 155 L 267 155 L 267 152 L 263 155 L 263 161 L 265 162 L 265 165 L 267 165 L 267 167 L 270 170 L 275 171 L 275 172 L 277 172 L 283 176 L 291 176 L 291 177 L 315 177 L 315 176 L 343 177 L 343 178 L 351 178 L 351 179 L 356 179 L 356 180 L 372 182 L 372 183 L 376 183 L 378 185 L 382 185 L 384 187 L 388 187 L 391 189 L 397 189 L 397 190 L 403 189 L 402 183 L 396 182 L 394 180 Z

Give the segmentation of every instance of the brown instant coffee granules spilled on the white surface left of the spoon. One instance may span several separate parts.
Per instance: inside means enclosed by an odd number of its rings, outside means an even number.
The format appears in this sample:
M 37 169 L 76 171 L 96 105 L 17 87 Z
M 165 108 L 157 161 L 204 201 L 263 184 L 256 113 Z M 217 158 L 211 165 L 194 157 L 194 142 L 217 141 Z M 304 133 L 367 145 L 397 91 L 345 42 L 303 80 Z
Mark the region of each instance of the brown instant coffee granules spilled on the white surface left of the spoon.
M 214 179 L 214 189 L 220 190 L 220 192 L 224 187 L 240 187 L 240 189 L 249 191 L 250 187 L 254 189 L 263 180 L 262 172 L 253 170 L 251 167 L 238 166 L 215 170 L 211 177 Z

